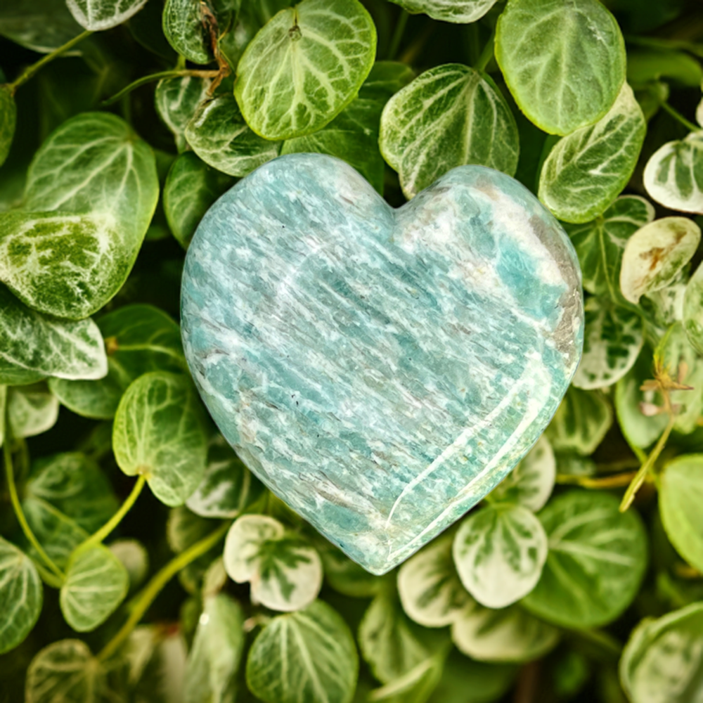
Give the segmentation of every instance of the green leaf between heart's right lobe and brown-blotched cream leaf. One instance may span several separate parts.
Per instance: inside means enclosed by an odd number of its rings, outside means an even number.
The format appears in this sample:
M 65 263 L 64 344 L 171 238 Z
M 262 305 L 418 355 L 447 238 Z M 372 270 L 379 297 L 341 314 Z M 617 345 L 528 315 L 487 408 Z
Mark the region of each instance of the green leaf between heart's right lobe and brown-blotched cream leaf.
M 585 224 L 565 224 L 576 248 L 583 289 L 626 304 L 620 292 L 620 265 L 627 240 L 654 219 L 654 207 L 638 195 L 623 195 Z

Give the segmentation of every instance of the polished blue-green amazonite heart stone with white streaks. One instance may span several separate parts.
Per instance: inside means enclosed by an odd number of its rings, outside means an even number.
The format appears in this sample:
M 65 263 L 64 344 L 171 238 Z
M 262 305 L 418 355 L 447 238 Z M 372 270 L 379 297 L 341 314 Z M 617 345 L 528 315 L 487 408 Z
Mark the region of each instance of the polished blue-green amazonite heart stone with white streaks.
M 225 193 L 183 273 L 195 383 L 244 463 L 368 571 L 491 491 L 576 370 L 576 254 L 514 179 L 463 166 L 399 209 L 291 154 Z

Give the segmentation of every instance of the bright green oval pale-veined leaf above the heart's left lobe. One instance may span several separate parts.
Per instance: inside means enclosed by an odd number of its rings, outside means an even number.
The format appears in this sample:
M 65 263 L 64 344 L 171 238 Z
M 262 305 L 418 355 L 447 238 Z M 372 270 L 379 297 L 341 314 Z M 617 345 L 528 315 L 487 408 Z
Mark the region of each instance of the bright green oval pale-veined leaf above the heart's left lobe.
M 256 134 L 311 134 L 352 102 L 375 53 L 375 26 L 358 0 L 303 0 L 271 18 L 247 46 L 234 94 Z

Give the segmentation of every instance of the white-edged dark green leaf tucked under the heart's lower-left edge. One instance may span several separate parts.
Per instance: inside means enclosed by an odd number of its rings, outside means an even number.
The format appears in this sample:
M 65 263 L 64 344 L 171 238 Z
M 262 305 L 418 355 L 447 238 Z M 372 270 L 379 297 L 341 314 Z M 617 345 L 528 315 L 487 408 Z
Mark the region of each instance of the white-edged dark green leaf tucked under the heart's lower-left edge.
M 207 451 L 205 475 L 186 505 L 196 515 L 231 519 L 264 493 L 264 485 L 218 434 Z

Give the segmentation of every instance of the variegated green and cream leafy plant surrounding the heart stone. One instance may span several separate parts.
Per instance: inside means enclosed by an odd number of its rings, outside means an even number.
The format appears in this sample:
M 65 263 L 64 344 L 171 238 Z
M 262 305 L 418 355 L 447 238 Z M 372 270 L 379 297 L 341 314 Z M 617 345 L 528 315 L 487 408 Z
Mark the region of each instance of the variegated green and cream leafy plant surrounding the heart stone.
M 0 702 L 702 699 L 698 2 L 16 0 L 0 35 Z M 247 471 L 181 349 L 202 215 L 309 151 L 392 205 L 500 169 L 583 273 L 543 437 L 385 576 Z

